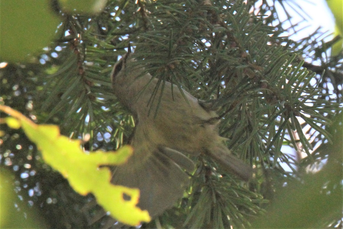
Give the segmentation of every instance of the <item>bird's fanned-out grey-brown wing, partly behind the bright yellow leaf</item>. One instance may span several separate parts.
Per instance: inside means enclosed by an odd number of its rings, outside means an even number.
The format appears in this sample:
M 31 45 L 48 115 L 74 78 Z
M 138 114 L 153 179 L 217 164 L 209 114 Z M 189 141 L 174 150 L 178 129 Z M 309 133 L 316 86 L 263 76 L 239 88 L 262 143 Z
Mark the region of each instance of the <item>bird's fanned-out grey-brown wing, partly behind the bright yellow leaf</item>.
M 192 172 L 194 167 L 193 161 L 170 148 L 158 147 L 153 152 L 135 152 L 134 149 L 126 164 L 111 169 L 111 183 L 138 188 L 137 206 L 146 209 L 153 218 L 182 197 L 190 182 L 184 170 Z

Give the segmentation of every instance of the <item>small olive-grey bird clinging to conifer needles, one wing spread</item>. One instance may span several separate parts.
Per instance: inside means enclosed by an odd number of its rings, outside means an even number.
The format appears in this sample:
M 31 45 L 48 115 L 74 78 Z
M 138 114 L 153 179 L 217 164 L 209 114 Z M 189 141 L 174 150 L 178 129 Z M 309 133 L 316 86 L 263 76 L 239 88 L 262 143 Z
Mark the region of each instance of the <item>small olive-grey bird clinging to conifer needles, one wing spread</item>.
M 130 142 L 133 155 L 113 169 L 111 182 L 139 188 L 138 206 L 152 218 L 173 206 L 189 185 L 185 171 L 195 166 L 185 154 L 208 154 L 223 170 L 245 181 L 251 178 L 252 169 L 218 135 L 216 112 L 190 93 L 170 82 L 158 84 L 130 52 L 114 65 L 111 81 L 117 99 L 137 123 Z

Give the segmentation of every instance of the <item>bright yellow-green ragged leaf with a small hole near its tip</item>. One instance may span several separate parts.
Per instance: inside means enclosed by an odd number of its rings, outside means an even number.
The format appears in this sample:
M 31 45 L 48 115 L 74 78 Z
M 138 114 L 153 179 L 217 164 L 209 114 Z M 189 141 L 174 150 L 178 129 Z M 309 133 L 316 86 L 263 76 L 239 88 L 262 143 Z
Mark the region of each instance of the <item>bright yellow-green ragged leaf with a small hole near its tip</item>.
M 18 123 L 14 126 L 22 126 L 27 137 L 42 152 L 44 161 L 67 178 L 75 191 L 82 195 L 93 193 L 105 210 L 125 224 L 139 225 L 142 221 L 151 220 L 146 210 L 136 206 L 139 190 L 111 184 L 109 169 L 100 167 L 126 162 L 132 154 L 130 146 L 122 147 L 116 152 L 98 150 L 86 154 L 81 149 L 81 141 L 60 135 L 58 126 L 37 125 L 7 106 L 0 105 L 0 110 L 16 119 Z M 13 118 L 6 118 L 5 122 L 13 125 Z M 124 196 L 130 196 L 129 200 L 124 200 Z

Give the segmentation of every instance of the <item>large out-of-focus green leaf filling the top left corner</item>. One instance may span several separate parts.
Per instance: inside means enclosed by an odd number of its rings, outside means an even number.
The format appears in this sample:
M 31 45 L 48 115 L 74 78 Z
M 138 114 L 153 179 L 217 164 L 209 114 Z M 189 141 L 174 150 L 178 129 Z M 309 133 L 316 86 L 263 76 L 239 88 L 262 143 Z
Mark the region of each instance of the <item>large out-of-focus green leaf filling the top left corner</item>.
M 0 0 L 1 61 L 28 61 L 49 45 L 60 19 L 50 1 Z

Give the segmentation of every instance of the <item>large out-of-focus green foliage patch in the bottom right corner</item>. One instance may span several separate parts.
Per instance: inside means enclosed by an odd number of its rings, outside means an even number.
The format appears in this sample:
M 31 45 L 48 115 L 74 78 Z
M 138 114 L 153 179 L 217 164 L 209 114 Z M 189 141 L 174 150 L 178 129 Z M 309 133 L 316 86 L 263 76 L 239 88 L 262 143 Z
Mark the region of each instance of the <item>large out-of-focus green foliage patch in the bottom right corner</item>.
M 327 164 L 315 174 L 288 182 L 253 228 L 342 228 L 342 114 L 329 129 L 333 144 L 321 145 L 321 155 L 328 153 Z

